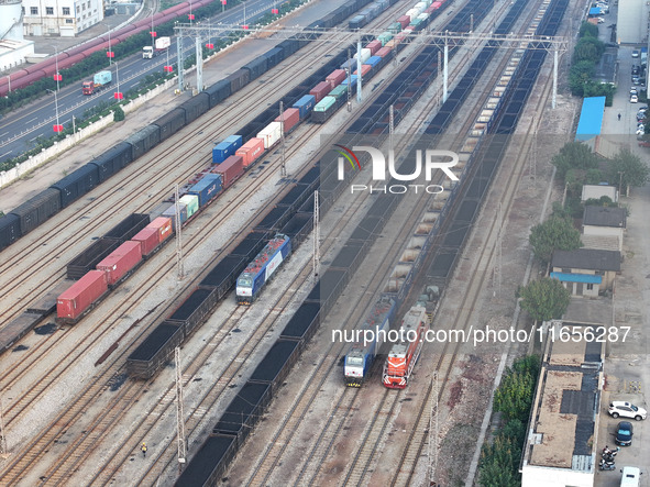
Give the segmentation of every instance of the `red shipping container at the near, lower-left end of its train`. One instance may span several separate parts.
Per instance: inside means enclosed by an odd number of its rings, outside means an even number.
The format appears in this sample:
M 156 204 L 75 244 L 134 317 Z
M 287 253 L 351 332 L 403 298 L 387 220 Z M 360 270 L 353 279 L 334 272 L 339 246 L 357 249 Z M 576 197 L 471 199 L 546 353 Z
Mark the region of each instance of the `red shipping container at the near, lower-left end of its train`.
M 106 275 L 101 270 L 89 270 L 56 299 L 57 321 L 74 323 L 107 290 Z

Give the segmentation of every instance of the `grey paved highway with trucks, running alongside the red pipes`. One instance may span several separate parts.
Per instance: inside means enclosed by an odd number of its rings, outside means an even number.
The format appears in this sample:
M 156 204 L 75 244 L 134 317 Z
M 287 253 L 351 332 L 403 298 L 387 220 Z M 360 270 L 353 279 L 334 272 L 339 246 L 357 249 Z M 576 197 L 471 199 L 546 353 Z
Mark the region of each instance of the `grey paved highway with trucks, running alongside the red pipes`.
M 249 0 L 246 4 L 246 21 L 251 22 L 268 12 L 273 1 Z M 212 24 L 241 24 L 242 21 L 243 8 L 238 5 L 223 14 L 214 16 L 211 22 Z M 194 40 L 185 38 L 183 47 L 186 55 L 194 54 Z M 170 64 L 176 62 L 176 53 L 177 47 L 174 40 L 169 48 L 168 62 Z M 119 91 L 126 92 L 136 87 L 145 76 L 152 73 L 162 73 L 163 66 L 166 64 L 167 56 L 143 59 L 141 54 L 134 54 L 120 60 L 119 64 L 107 65 L 107 69 L 110 69 L 113 75 L 113 84 L 110 89 L 92 96 L 84 96 L 80 89 L 81 81 L 79 81 L 62 88 L 56 96 L 49 92 L 35 103 L 4 115 L 0 124 L 0 162 L 33 148 L 40 136 L 47 137 L 52 135 L 53 125 L 57 123 L 57 113 L 59 124 L 71 123 L 73 117 L 82 117 L 91 107 L 112 100 L 113 93 L 118 91 L 118 81 Z M 90 75 L 88 78 L 90 78 Z

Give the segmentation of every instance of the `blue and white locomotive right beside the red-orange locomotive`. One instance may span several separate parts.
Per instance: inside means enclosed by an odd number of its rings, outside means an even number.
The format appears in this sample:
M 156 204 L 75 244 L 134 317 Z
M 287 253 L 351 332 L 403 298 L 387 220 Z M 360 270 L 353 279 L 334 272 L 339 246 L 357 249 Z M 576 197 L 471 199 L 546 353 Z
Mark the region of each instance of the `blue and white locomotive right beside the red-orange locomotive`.
M 368 376 L 373 361 L 379 352 L 384 339 L 383 334 L 377 332 L 387 333 L 390 330 L 390 322 L 395 319 L 397 308 L 397 301 L 390 295 L 383 295 L 373 306 L 363 326 L 360 329 L 360 340 L 350 347 L 348 355 L 345 355 L 343 372 L 346 386 L 361 387 Z M 374 340 L 370 343 L 364 343 L 363 332 L 365 330 L 373 331 Z M 370 337 L 370 333 L 367 337 Z

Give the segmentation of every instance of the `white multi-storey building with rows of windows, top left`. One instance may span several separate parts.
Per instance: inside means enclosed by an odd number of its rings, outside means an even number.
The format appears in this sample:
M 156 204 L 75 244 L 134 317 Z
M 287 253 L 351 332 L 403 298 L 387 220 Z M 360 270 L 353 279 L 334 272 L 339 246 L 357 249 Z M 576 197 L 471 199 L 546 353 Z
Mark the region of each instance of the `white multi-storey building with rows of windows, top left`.
M 23 0 L 25 35 L 74 37 L 103 20 L 101 0 Z

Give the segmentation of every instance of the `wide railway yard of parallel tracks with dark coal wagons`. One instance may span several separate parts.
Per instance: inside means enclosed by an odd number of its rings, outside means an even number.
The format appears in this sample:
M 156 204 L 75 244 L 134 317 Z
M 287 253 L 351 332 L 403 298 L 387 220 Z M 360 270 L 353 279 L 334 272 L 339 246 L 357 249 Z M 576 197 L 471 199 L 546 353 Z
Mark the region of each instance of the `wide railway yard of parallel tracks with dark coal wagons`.
M 0 460 L 0 485 L 475 482 L 495 378 L 528 343 L 425 343 L 406 388 L 382 386 L 382 359 L 364 372 L 361 387 L 345 387 L 344 357 L 352 344 L 333 340 L 334 332 L 371 323 L 364 319 L 381 299 L 395 307 L 393 328 L 418 309 L 411 308 L 417 301 L 433 330 L 529 326 L 518 319 L 514 295 L 539 270 L 528 234 L 550 201 L 561 199 L 550 159 L 573 140 L 579 102 L 561 89 L 551 108 L 553 56 L 546 49 L 527 43 L 499 47 L 495 41 L 450 48 L 449 98 L 442 102 L 441 49 L 423 37 L 409 42 L 404 29 L 410 21 L 414 35 L 427 25 L 432 32 L 571 37 L 585 3 L 421 3 L 307 4 L 283 22 L 339 25 L 337 42 L 320 42 L 316 34 L 310 42 L 277 34 L 243 41 L 206 65 L 206 92 L 164 93 L 136 117 L 0 191 L 3 204 L 13 208 L 54 191 L 49 187 L 63 174 L 57 191 L 67 201 L 57 199 L 49 218 L 22 236 L 25 222 L 16 218 L 18 233 L 0 250 L 0 321 L 13 323 L 0 330 L 2 429 L 10 452 Z M 384 56 L 378 48 L 368 48 L 372 56 L 360 53 L 364 62 L 376 57 L 362 70 L 361 103 L 355 88 L 348 91 L 349 103 L 346 90 L 320 100 L 312 88 L 330 82 L 328 75 L 356 49 L 360 35 L 348 26 L 360 12 L 367 22 L 363 29 L 373 31 L 387 30 L 405 14 L 409 21 L 397 27 L 401 37 L 393 32 L 377 44 L 392 43 Z M 422 21 L 414 23 L 417 18 Z M 364 46 L 373 41 L 363 36 Z M 356 60 L 350 66 L 354 71 Z M 272 135 L 255 155 L 233 147 L 232 173 L 211 164 L 218 142 L 241 134 L 249 145 L 272 126 L 280 100 L 284 109 L 299 112 L 290 128 L 283 119 L 284 141 Z M 333 145 L 376 144 L 386 153 L 388 139 L 398 155 L 432 147 L 456 153 L 459 180 L 438 170 L 427 181 L 438 193 L 351 191 L 350 185 L 379 181 L 367 159 L 343 170 Z M 117 152 L 109 152 L 113 146 Z M 114 161 L 101 159 L 118 152 Z M 86 169 L 91 159 L 97 164 Z M 401 174 L 412 171 L 414 157 L 397 159 Z M 186 182 L 207 178 L 206 168 L 219 180 L 217 197 L 201 193 L 195 214 L 176 219 L 173 211 L 169 220 L 176 230 L 183 224 L 183 278 L 168 236 L 79 310 L 74 324 L 60 311 L 57 317 L 52 303 L 71 286 L 68 263 L 132 213 L 151 215 L 148 223 L 163 215 L 163 201 L 179 208 L 173 204 L 175 185 L 191 195 Z M 80 170 L 96 170 L 97 177 L 84 179 L 86 189 L 71 195 L 65 181 Z M 142 226 L 123 241 L 136 239 Z M 250 306 L 238 306 L 236 277 L 256 255 L 265 258 L 258 252 L 277 233 L 290 240 L 290 254 L 283 251 L 282 266 L 273 259 L 273 280 Z M 34 313 L 43 303 L 48 310 Z M 25 324 L 30 320 L 34 331 Z M 187 439 L 181 468 L 176 345 Z

